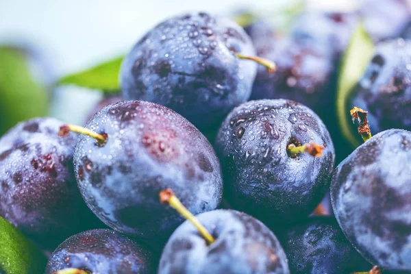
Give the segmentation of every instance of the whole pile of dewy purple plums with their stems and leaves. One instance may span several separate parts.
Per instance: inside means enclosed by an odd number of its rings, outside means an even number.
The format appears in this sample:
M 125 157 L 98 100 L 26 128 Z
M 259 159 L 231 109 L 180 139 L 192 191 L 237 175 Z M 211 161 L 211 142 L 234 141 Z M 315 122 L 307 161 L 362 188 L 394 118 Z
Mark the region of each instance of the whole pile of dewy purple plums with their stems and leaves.
M 60 79 L 105 98 L 1 136 L 0 273 L 411 273 L 410 15 L 180 14 Z

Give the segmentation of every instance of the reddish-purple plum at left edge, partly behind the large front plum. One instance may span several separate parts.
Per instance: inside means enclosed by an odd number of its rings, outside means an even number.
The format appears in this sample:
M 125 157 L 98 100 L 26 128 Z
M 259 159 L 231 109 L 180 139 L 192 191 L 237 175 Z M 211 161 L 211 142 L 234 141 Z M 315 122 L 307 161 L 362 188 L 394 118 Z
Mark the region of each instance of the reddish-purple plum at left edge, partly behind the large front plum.
M 86 207 L 73 172 L 75 134 L 58 137 L 62 122 L 37 118 L 0 139 L 0 216 L 45 249 L 101 225 Z

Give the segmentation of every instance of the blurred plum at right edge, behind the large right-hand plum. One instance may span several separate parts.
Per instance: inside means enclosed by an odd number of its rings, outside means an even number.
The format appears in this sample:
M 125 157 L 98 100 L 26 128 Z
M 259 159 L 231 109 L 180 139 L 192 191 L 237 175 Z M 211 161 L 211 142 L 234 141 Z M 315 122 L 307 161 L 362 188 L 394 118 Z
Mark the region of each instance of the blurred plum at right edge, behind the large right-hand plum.
M 411 41 L 381 42 L 347 101 L 368 111 L 371 132 L 411 129 Z

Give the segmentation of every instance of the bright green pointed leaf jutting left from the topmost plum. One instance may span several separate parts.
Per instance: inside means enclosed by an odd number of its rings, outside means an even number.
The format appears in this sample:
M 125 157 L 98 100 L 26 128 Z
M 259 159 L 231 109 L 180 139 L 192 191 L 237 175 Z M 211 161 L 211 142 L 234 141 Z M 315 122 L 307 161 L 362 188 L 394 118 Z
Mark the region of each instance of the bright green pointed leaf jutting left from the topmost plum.
M 85 71 L 64 76 L 58 81 L 58 84 L 102 90 L 105 94 L 118 93 L 121 62 L 123 62 L 123 56 L 103 62 Z

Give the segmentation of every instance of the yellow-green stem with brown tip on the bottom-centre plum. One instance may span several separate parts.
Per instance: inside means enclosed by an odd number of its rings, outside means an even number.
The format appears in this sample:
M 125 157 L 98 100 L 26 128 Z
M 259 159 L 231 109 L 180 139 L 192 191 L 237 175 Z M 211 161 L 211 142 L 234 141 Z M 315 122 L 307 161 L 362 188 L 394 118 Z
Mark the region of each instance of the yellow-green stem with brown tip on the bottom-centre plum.
M 175 196 L 173 190 L 167 188 L 166 190 L 162 190 L 160 192 L 160 201 L 162 203 L 168 204 L 179 214 L 182 214 L 184 218 L 190 221 L 200 232 L 201 236 L 206 239 L 208 245 L 211 245 L 214 242 L 214 237 L 208 232 L 206 227 L 204 227 L 199 219 L 197 219 L 183 204 L 182 202 Z

